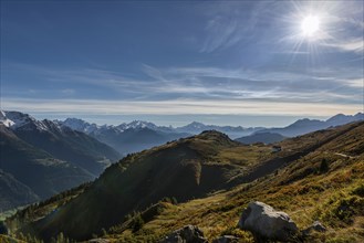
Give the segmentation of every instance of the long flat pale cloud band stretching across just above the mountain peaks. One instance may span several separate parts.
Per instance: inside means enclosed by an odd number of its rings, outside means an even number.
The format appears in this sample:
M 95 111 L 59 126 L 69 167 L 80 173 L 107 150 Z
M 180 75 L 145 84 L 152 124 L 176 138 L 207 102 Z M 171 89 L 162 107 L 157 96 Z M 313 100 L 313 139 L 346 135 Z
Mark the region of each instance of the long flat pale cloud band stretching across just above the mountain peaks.
M 2 101 L 3 109 L 29 113 L 58 113 L 80 115 L 306 115 L 330 116 L 336 113 L 353 114 L 361 105 L 325 103 L 284 103 L 268 101 L 194 101 L 171 99 L 160 102 L 125 102 L 100 99 L 22 99 Z

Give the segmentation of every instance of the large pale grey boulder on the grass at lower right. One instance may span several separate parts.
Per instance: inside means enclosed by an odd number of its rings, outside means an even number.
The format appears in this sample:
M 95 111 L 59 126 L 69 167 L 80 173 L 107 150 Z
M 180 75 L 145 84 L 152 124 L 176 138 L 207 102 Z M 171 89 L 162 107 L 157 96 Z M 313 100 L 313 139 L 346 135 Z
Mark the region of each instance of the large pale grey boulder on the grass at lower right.
M 250 202 L 241 213 L 238 226 L 252 232 L 258 242 L 277 240 L 289 242 L 299 233 L 290 216 L 263 202 Z

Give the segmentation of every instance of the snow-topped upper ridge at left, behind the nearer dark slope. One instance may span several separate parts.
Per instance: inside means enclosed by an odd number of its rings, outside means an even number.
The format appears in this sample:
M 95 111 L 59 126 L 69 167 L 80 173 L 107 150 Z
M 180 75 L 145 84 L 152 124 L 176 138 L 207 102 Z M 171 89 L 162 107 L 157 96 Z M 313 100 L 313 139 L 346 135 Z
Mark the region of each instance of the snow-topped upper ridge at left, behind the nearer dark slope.
M 58 159 L 73 162 L 94 176 L 98 176 L 106 166 L 121 158 L 117 151 L 97 139 L 52 120 L 38 120 L 19 112 L 1 112 L 0 123 L 8 125 L 9 129 L 28 144 Z

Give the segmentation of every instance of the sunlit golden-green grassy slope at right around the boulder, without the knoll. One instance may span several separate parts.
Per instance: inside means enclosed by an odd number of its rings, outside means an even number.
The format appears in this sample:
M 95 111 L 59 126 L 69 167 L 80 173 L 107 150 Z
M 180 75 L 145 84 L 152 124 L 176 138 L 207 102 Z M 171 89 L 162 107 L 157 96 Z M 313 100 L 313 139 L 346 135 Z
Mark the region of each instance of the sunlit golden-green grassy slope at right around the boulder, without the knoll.
M 249 242 L 251 235 L 236 225 L 242 208 L 260 200 L 288 212 L 300 229 L 315 220 L 329 229 L 325 233 L 313 233 L 306 242 L 363 242 L 364 125 L 318 131 L 282 141 L 281 146 L 302 150 L 326 139 L 314 151 L 288 161 L 289 165 L 272 175 L 204 199 L 177 205 L 167 203 L 136 233 L 125 230 L 124 223 L 113 228 L 106 237 L 123 242 L 153 241 L 183 225 L 196 224 L 210 240 L 232 233 Z M 322 166 L 325 162 L 327 168 Z

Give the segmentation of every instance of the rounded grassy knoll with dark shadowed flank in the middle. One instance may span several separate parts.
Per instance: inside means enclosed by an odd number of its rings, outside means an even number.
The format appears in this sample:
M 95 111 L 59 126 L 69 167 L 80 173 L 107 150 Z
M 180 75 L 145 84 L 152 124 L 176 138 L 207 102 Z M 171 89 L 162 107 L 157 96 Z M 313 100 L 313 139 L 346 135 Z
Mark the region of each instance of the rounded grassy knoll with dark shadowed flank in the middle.
M 60 231 L 74 239 L 87 239 L 164 197 L 186 201 L 225 189 L 230 187 L 231 178 L 249 166 L 223 160 L 219 152 L 239 146 L 242 154 L 259 150 L 241 146 L 218 131 L 205 131 L 131 155 L 107 168 L 84 193 L 33 226 L 42 229 L 40 235 L 44 239 Z

